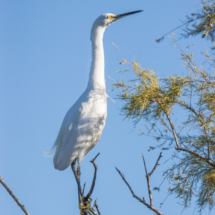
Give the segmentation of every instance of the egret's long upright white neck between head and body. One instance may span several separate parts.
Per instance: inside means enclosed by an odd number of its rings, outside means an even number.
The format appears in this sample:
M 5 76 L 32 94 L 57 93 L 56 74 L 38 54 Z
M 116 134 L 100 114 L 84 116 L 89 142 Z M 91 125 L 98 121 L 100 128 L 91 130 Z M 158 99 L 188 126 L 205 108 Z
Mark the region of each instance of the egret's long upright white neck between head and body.
M 93 26 L 91 30 L 92 63 L 90 68 L 88 88 L 93 90 L 105 89 L 103 48 L 104 31 L 105 28 L 100 26 Z

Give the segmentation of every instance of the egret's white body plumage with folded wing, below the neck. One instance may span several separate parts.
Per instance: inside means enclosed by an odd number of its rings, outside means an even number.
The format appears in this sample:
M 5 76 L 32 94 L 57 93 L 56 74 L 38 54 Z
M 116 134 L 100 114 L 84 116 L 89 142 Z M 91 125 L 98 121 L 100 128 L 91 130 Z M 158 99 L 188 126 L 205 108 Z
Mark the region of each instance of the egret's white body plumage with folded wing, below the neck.
M 107 116 L 105 91 L 86 90 L 67 112 L 56 140 L 54 165 L 66 169 L 98 142 Z

